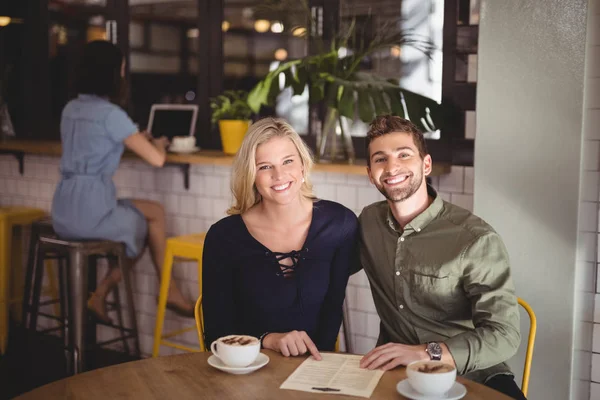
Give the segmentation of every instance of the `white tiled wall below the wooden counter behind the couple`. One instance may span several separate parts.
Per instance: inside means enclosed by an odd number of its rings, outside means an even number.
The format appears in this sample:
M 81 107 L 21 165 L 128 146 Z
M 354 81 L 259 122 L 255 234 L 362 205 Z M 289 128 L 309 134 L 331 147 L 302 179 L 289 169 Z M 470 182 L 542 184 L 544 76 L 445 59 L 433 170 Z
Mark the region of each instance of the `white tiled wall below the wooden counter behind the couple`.
M 124 161 L 114 180 L 121 197 L 161 202 L 167 213 L 168 235 L 181 235 L 206 231 L 225 216 L 230 203 L 229 173 L 229 167 L 192 166 L 190 188 L 185 190 L 183 175 L 177 167 L 153 169 L 142 162 Z M 357 214 L 364 206 L 383 198 L 366 176 L 314 173 L 312 180 L 319 197 L 338 201 Z M 58 158 L 26 156 L 25 174 L 20 176 L 15 159 L 0 157 L 0 205 L 19 204 L 49 210 L 57 181 Z M 472 208 L 472 167 L 454 166 L 450 174 L 433 177 L 432 183 L 444 199 Z M 198 295 L 196 266 L 193 263 L 176 264 L 174 278 L 187 296 L 195 298 Z M 148 355 L 152 351 L 158 279 L 147 252 L 135 267 L 134 279 L 142 352 Z M 379 319 L 364 272 L 351 277 L 347 301 L 353 351 L 367 352 L 375 345 Z M 167 312 L 165 328 L 183 328 L 190 322 Z M 99 332 L 100 336 L 109 334 L 108 330 Z M 197 344 L 198 340 L 194 332 L 179 339 L 189 344 Z M 172 352 L 176 350 L 161 348 L 161 354 Z

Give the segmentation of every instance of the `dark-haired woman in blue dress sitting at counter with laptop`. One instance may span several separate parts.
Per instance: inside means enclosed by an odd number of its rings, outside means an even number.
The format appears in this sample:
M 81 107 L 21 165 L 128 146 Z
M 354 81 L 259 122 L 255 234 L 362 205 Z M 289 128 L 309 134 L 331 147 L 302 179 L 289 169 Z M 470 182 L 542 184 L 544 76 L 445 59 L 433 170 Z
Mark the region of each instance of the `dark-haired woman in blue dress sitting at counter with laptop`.
M 125 147 L 161 167 L 168 143 L 138 132 L 119 106 L 125 97 L 124 76 L 124 58 L 115 45 L 94 41 L 85 47 L 76 82 L 78 97 L 62 112 L 61 179 L 52 201 L 52 222 L 64 238 L 123 242 L 132 262 L 148 243 L 160 276 L 166 244 L 164 209 L 153 201 L 117 199 L 112 176 Z M 104 322 L 110 322 L 106 296 L 120 279 L 121 271 L 113 268 L 89 299 L 89 309 Z M 170 286 L 168 307 L 193 316 L 193 303 L 173 283 Z

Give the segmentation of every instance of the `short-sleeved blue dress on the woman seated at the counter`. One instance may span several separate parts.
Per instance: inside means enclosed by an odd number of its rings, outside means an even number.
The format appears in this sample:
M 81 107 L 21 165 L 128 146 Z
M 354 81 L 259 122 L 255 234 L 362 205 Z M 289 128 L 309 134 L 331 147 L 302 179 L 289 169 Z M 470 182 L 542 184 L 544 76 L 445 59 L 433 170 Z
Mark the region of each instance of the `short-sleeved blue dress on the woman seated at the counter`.
M 52 200 L 52 223 L 60 237 L 122 242 L 131 258 L 142 251 L 146 218 L 130 201 L 117 199 L 112 181 L 123 141 L 137 130 L 125 111 L 101 97 L 79 95 L 65 106 L 61 178 Z

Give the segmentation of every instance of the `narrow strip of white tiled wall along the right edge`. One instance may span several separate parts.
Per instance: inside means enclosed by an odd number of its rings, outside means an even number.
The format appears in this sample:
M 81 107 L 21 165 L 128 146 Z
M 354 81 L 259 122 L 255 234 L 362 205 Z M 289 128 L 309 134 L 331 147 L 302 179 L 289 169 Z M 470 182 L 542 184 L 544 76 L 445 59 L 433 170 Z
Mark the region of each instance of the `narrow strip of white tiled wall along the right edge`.
M 589 7 L 579 251 L 575 273 L 575 354 L 571 397 L 576 400 L 600 400 L 600 30 L 597 29 L 600 25 L 600 0 L 590 0 Z

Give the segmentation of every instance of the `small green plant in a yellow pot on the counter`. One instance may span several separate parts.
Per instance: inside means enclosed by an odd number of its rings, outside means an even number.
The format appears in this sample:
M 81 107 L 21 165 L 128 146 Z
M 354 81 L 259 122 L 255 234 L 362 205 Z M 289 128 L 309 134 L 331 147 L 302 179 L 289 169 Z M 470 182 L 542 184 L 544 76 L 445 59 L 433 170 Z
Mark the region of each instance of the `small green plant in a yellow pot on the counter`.
M 219 124 L 225 154 L 235 154 L 250 126 L 253 112 L 248 105 L 248 92 L 228 90 L 210 99 L 212 123 Z

